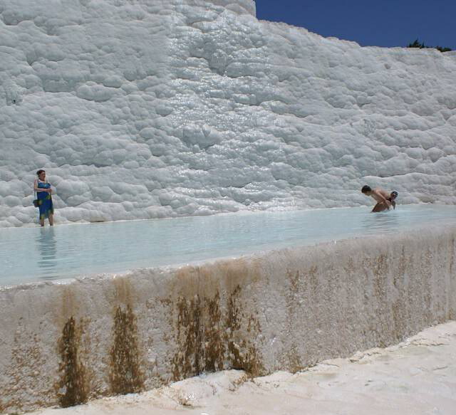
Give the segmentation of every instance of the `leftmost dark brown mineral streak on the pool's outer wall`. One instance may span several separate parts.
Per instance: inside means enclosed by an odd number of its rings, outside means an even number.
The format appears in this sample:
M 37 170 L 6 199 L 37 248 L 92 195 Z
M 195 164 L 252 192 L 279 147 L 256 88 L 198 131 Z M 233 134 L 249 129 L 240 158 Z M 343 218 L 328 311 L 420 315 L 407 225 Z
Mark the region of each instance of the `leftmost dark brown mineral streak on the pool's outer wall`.
M 62 336 L 58 342 L 61 375 L 56 389 L 58 400 L 64 408 L 83 404 L 88 399 L 86 369 L 79 355 L 81 335 L 81 327 L 76 325 L 74 317 L 70 317 L 63 327 Z

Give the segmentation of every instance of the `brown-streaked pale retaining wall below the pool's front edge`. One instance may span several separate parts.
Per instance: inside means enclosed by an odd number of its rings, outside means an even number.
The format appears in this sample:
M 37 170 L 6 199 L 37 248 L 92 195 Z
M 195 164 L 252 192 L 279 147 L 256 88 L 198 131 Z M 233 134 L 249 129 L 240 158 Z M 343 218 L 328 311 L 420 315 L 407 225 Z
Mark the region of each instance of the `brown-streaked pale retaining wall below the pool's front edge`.
M 0 412 L 295 372 L 456 319 L 456 228 L 0 290 Z

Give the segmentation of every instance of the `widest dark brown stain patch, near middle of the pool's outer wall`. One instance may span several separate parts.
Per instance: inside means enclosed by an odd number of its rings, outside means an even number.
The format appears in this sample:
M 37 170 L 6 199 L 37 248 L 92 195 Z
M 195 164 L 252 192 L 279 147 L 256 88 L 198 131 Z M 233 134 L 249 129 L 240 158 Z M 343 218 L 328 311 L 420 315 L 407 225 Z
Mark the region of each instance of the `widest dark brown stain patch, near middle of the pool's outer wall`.
M 223 306 L 218 291 L 209 298 L 177 299 L 177 352 L 171 358 L 175 381 L 228 368 L 244 369 L 252 375 L 262 372 L 255 346 L 260 325 L 253 315 L 242 315 L 237 305 L 240 292 L 238 285 Z

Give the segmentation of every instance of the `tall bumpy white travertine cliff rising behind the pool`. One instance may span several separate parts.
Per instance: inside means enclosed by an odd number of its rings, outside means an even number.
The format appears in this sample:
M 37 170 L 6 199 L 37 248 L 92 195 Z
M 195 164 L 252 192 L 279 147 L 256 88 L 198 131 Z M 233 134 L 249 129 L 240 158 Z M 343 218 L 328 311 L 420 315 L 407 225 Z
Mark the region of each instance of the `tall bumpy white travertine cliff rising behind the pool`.
M 252 0 L 3 0 L 0 226 L 456 201 L 456 53 L 361 48 Z

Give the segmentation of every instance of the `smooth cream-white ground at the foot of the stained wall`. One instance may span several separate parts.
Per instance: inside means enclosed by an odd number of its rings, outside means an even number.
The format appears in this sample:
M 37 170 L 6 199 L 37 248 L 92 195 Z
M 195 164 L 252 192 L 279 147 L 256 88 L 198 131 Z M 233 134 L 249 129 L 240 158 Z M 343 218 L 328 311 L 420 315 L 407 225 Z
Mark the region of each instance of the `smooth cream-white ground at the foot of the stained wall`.
M 36 415 L 456 414 L 456 321 L 291 374 L 229 370 Z

